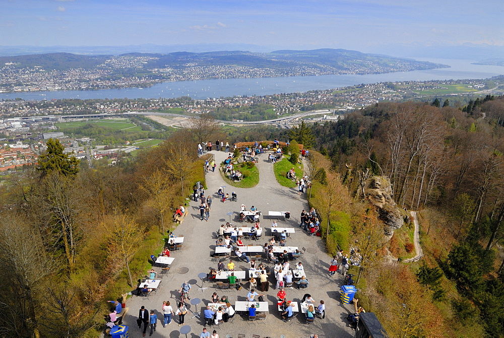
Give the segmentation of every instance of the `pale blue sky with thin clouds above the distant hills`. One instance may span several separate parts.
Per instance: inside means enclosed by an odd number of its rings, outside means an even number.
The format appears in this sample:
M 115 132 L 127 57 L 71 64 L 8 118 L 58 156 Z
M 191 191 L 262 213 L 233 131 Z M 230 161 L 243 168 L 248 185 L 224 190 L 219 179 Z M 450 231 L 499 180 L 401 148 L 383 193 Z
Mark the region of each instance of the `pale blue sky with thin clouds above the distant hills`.
M 501 0 L 0 0 L 0 45 L 504 46 Z

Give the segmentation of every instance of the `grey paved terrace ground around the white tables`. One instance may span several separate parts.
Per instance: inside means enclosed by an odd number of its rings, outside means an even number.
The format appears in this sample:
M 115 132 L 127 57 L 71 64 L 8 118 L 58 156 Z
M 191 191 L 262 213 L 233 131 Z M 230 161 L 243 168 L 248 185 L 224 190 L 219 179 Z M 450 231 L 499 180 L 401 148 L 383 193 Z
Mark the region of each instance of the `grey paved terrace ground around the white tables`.
M 227 153 L 212 152 L 215 155 L 216 163 L 222 162 Z M 161 283 L 161 289 L 156 295 L 150 297 L 149 300 L 142 300 L 141 297 L 132 297 L 128 300 L 127 306 L 130 308 L 129 313 L 124 319 L 124 324 L 130 326 L 130 337 L 142 336 L 142 331 L 136 324 L 140 306 L 145 305 L 149 310 L 154 309 L 158 318 L 163 318 L 161 306 L 163 301 L 170 301 L 174 309 L 176 309 L 176 299 L 179 298 L 178 289 L 184 280 L 189 281 L 192 285 L 191 297 L 200 298 L 199 306 L 190 305 L 190 309 L 202 313 L 203 306 L 209 303 L 213 292 L 217 292 L 220 296 L 227 295 L 231 304 L 234 306 L 235 301 L 246 299 L 246 294 L 249 291 L 249 283 L 242 283 L 243 288 L 240 291 L 232 290 L 215 290 L 209 283 L 204 283 L 204 287 L 208 289 L 197 290 L 201 287 L 202 282 L 198 279 L 198 274 L 208 273 L 211 267 L 216 268 L 217 262 L 211 260 L 210 254 L 215 249 L 216 231 L 221 224 L 229 221 L 228 212 L 233 212 L 231 221 L 237 226 L 240 223 L 236 222 L 240 205 L 243 203 L 249 209 L 255 206 L 261 210 L 264 215 L 268 215 L 268 211 L 289 211 L 291 213 L 290 220 L 278 221 L 279 227 L 295 228 L 295 233 L 291 234 L 287 240 L 287 245 L 306 248 L 306 252 L 301 255 L 298 260 L 303 263 L 305 273 L 309 281 L 309 286 L 306 290 L 297 290 L 288 288 L 287 299 L 300 301 L 305 293 L 311 296 L 318 303 L 324 300 L 326 303 L 325 319 L 316 319 L 314 324 L 307 326 L 305 324 L 304 315 L 297 314 L 290 322 L 285 323 L 280 319 L 279 311 L 276 306 L 276 294 L 278 290 L 270 287 L 269 292 L 265 295 L 265 300 L 269 302 L 269 313 L 267 315 L 266 324 L 248 323 L 242 320 L 239 315 L 234 316 L 233 322 L 223 323 L 220 327 L 211 327 L 209 331 L 214 329 L 221 338 L 225 338 L 227 334 L 236 337 L 238 333 L 245 334 L 246 338 L 251 338 L 253 334 L 261 337 L 280 337 L 284 334 L 287 338 L 293 337 L 309 337 L 317 333 L 319 337 L 352 337 L 354 331 L 348 325 L 346 317 L 349 312 L 353 312 L 353 305 L 342 305 L 339 298 L 339 285 L 343 277 L 336 274 L 334 277 L 328 275 L 329 262 L 331 257 L 325 253 L 324 242 L 318 237 L 307 236 L 301 228 L 299 228 L 299 215 L 303 209 L 307 209 L 306 199 L 304 196 L 299 196 L 296 189 L 286 188 L 278 184 L 273 173 L 273 165 L 268 163 L 267 156 L 261 155 L 257 164 L 260 173 L 259 184 L 254 188 L 236 188 L 227 186 L 224 191 L 231 195 L 235 191 L 238 195 L 237 202 L 228 201 L 221 202 L 217 198 L 217 190 L 219 186 L 227 185 L 221 177 L 221 174 L 209 172 L 207 174 L 207 186 L 205 195 L 212 196 L 212 206 L 210 220 L 202 222 L 199 218 L 198 206 L 196 202 L 191 201 L 189 215 L 178 228 L 174 231 L 176 235 L 184 235 L 184 247 L 182 251 L 173 252 L 172 257 L 175 258 L 171 264 L 170 272 L 165 276 Z M 243 224 L 248 226 L 248 223 Z M 261 226 L 263 227 L 263 238 L 257 242 L 257 245 L 264 245 L 270 239 L 271 221 L 267 218 L 261 218 Z M 252 241 L 244 241 L 246 244 L 251 244 Z M 148 257 L 146 257 L 148 259 Z M 232 260 L 236 264 L 236 270 L 244 270 L 248 265 L 238 262 L 234 254 Z M 290 261 L 291 265 L 298 261 Z M 272 266 L 271 264 L 268 264 Z M 187 270 L 187 273 L 182 274 Z M 273 284 L 270 278 L 270 285 Z M 274 285 L 273 285 L 274 286 Z M 260 293 L 260 292 L 259 292 Z M 275 304 L 275 305 L 274 305 Z M 318 304 L 317 304 L 318 305 Z M 193 315 L 189 313 L 185 316 L 185 324 L 191 325 L 192 331 L 187 336 L 199 337 L 203 330 L 204 320 L 191 318 Z M 201 315 L 203 318 L 204 316 Z M 158 322 L 157 330 L 153 337 L 183 337 L 178 329 L 178 316 L 170 325 L 163 328 L 162 322 Z M 148 336 L 149 332 L 147 332 Z

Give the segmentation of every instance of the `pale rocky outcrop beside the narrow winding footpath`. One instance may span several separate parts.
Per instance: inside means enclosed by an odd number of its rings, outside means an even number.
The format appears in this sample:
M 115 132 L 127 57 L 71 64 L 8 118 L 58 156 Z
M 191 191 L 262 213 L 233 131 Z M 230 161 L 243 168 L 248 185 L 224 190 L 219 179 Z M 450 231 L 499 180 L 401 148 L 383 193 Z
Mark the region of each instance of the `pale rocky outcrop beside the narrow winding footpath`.
M 403 210 L 392 199 L 392 187 L 388 177 L 371 176 L 364 180 L 365 199 L 376 207 L 380 219 L 386 224 L 385 235 L 392 236 L 395 229 L 404 224 Z

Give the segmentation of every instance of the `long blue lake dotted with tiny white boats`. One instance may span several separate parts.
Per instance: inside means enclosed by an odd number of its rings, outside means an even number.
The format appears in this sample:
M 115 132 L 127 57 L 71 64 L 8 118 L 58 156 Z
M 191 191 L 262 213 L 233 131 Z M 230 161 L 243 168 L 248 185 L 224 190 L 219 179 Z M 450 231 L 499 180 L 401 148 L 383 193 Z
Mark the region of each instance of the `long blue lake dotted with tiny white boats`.
M 395 72 L 366 75 L 322 75 L 276 78 L 211 79 L 199 81 L 163 82 L 149 88 L 103 89 L 93 91 L 46 91 L 2 93 L 0 99 L 121 99 L 121 98 L 176 98 L 193 99 L 269 95 L 334 89 L 359 84 L 401 81 L 485 79 L 504 74 L 504 66 L 476 65 L 470 60 L 421 59 L 448 64 L 450 68 L 424 71 Z

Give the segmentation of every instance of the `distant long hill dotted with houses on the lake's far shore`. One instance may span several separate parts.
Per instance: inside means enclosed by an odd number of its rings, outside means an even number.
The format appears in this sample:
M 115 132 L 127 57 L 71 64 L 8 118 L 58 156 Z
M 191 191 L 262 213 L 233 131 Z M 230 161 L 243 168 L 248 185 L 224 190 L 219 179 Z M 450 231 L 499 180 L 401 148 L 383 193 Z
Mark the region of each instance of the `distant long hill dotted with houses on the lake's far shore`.
M 77 55 L 49 53 L 0 57 L 0 64 L 25 68 L 41 66 L 46 70 L 185 69 L 192 66 L 233 66 L 273 69 L 284 73 L 303 71 L 303 67 L 324 74 L 370 74 L 412 71 L 446 67 L 432 62 L 415 61 L 385 55 L 364 54 L 345 49 L 278 50 L 271 53 L 248 51 L 214 51 L 204 53 L 174 52 L 168 54 L 128 53 L 121 55 Z M 303 75 L 303 74 L 299 74 Z

